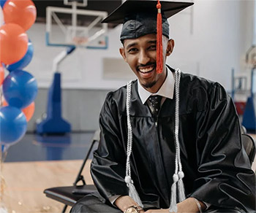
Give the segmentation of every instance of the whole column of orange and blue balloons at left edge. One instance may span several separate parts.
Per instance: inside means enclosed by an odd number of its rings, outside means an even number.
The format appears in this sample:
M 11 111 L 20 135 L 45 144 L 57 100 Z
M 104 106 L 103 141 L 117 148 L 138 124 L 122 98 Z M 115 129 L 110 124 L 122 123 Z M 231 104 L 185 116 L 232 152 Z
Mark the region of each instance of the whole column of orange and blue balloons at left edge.
M 34 52 L 26 31 L 34 24 L 37 9 L 31 0 L 0 0 L 0 3 L 1 152 L 22 139 L 34 113 L 37 81 L 23 69 Z M 10 71 L 5 78 L 4 68 Z

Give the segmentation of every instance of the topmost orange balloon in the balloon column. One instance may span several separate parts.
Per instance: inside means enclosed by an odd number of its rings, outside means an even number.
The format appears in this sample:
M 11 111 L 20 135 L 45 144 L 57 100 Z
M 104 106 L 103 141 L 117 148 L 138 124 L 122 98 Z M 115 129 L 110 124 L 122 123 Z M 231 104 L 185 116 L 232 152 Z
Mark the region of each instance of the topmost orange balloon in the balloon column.
M 4 4 L 5 23 L 17 23 L 27 31 L 37 18 L 37 8 L 31 0 L 9 0 Z

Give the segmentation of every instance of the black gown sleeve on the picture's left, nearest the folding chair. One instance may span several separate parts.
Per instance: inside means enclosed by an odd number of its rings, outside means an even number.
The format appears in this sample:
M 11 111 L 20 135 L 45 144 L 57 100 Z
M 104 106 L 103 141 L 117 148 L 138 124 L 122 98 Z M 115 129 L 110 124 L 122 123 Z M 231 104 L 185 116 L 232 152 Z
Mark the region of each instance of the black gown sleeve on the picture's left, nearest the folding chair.
M 99 147 L 91 162 L 91 177 L 99 194 L 107 200 L 114 195 L 129 195 L 124 182 L 126 152 L 121 140 L 118 109 L 109 93 L 99 115 Z

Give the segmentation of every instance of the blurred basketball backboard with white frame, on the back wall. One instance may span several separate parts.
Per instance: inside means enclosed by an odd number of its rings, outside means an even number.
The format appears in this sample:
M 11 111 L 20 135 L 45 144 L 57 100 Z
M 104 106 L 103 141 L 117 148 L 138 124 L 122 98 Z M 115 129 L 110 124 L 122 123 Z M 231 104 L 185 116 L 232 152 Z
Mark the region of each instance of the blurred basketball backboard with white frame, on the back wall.
M 101 23 L 108 12 L 78 9 L 87 1 L 64 0 L 72 8 L 46 8 L 46 44 L 48 46 L 78 46 L 93 49 L 108 48 L 108 25 Z

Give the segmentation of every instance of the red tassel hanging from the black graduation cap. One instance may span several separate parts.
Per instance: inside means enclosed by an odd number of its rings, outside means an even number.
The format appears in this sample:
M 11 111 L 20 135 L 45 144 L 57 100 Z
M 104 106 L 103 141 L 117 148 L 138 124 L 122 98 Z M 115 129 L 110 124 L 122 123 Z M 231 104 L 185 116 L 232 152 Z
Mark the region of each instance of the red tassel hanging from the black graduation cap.
M 161 13 L 161 3 L 157 2 L 157 73 L 162 73 L 162 13 Z

